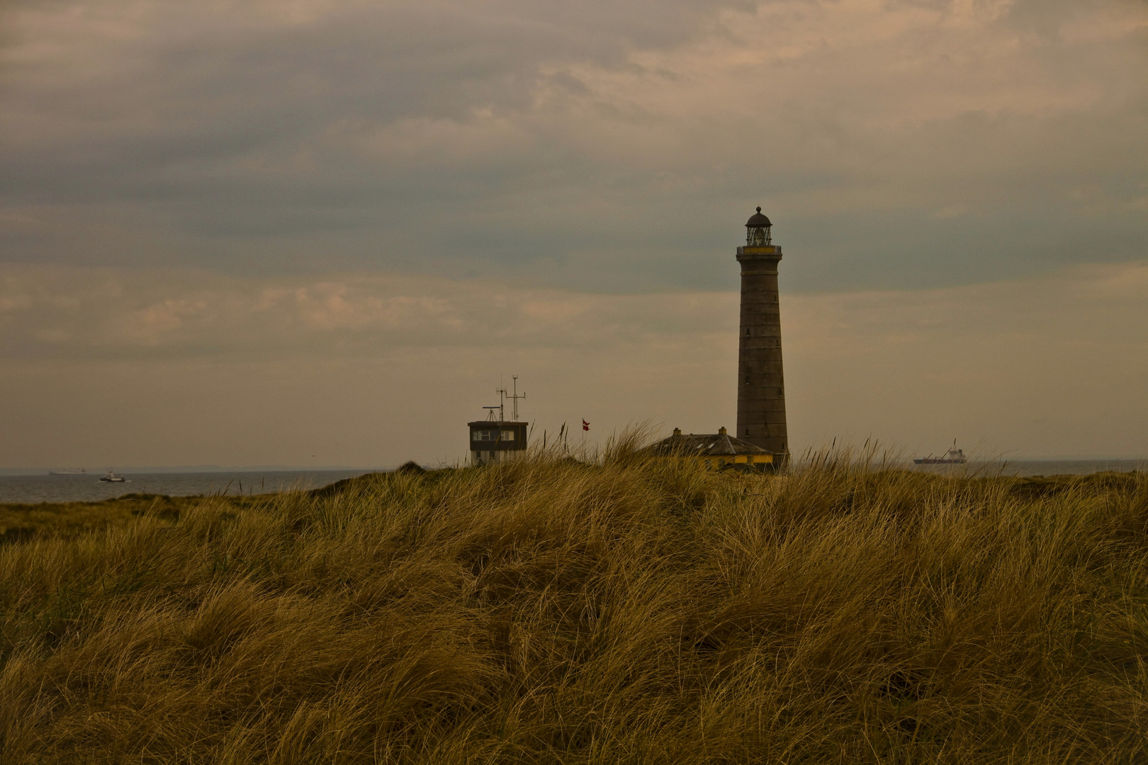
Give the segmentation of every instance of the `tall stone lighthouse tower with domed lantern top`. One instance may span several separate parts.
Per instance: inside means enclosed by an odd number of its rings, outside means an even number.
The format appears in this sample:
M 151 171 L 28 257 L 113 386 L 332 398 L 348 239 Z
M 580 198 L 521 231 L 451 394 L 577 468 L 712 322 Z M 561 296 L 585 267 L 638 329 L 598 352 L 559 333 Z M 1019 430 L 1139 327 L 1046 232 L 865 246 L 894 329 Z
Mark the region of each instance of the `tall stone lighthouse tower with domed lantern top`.
M 745 224 L 742 264 L 742 327 L 737 353 L 737 437 L 781 455 L 789 454 L 785 432 L 785 380 L 782 375 L 782 317 L 777 303 L 777 263 L 769 218 L 761 208 Z

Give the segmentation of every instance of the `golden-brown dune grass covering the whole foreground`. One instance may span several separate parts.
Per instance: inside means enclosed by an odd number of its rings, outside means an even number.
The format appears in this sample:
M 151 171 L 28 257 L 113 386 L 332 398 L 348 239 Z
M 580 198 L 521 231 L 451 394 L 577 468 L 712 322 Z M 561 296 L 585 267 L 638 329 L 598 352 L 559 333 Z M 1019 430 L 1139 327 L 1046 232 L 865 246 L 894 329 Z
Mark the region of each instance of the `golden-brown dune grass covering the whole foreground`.
M 1148 478 L 386 474 L 0 547 L 0 763 L 1143 763 Z

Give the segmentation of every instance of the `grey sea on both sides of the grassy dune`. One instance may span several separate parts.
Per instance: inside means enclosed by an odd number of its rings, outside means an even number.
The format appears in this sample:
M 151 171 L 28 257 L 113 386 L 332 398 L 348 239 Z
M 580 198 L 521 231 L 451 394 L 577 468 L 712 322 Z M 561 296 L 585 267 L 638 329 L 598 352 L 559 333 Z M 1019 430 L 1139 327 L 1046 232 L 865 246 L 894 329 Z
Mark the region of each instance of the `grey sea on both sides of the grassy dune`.
M 1148 460 L 1016 460 L 967 465 L 905 465 L 908 469 L 943 475 L 1054 476 L 1088 475 L 1104 470 L 1127 473 L 1148 470 Z M 124 494 L 267 494 L 272 492 L 319 489 L 377 469 L 358 470 L 219 470 L 214 473 L 124 474 L 124 483 L 104 483 L 100 474 L 83 475 L 0 475 L 0 504 L 96 502 Z

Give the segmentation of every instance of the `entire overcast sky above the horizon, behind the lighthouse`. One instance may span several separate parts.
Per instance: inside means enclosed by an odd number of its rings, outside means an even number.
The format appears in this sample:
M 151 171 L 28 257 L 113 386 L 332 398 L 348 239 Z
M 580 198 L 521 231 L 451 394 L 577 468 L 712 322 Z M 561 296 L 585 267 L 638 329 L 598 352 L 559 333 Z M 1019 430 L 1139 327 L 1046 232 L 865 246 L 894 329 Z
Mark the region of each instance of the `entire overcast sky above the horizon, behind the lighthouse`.
M 1148 0 L 9 0 L 0 468 L 736 422 L 1148 458 Z M 581 431 L 579 431 L 581 438 Z

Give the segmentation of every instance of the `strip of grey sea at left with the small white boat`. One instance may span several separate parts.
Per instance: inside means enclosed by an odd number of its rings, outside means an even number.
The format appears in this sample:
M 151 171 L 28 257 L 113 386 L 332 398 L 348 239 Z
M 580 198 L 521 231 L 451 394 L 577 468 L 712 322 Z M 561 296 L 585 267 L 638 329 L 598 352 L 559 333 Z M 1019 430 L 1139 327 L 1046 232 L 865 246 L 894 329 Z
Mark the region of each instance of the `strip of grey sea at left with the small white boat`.
M 0 476 L 0 502 L 92 502 L 124 494 L 264 494 L 289 489 L 318 489 L 370 470 L 277 470 L 266 473 L 124 474 L 124 483 L 104 483 L 99 473 L 65 476 Z

